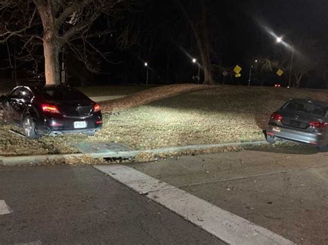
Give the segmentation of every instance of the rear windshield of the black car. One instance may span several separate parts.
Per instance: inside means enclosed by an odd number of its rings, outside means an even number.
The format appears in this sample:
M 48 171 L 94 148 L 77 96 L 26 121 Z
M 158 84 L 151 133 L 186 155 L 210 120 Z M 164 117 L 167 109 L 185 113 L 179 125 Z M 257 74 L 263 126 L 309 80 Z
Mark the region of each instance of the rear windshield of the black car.
M 78 101 L 89 100 L 86 95 L 74 88 L 44 88 L 40 90 L 44 99 L 53 101 Z

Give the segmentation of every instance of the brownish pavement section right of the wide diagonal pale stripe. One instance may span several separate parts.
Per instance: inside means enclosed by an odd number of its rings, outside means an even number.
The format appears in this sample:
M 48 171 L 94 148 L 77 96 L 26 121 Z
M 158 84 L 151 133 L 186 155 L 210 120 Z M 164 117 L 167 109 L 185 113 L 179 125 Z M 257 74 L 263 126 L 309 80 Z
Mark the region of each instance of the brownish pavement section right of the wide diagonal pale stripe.
M 297 244 L 328 244 L 328 153 L 254 148 L 133 164 Z

